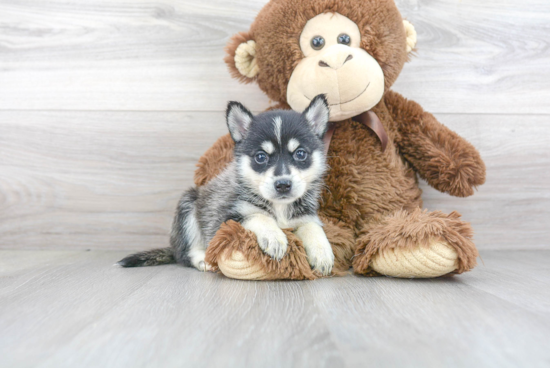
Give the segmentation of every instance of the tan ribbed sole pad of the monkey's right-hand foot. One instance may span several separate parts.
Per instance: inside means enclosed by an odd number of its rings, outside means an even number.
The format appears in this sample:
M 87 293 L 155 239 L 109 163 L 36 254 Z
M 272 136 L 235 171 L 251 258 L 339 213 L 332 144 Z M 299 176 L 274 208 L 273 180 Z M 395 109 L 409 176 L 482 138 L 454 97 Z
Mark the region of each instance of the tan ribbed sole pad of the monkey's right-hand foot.
M 387 248 L 379 251 L 370 267 L 386 276 L 432 278 L 447 275 L 458 267 L 456 250 L 442 241 L 416 248 Z

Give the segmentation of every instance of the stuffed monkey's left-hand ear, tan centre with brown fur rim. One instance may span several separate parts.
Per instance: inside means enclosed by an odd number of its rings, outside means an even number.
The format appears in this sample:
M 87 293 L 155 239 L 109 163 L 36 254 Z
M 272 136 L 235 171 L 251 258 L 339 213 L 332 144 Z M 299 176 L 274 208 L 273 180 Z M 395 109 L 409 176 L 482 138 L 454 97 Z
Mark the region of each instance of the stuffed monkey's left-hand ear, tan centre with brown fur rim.
M 231 37 L 225 48 L 224 58 L 233 78 L 242 83 L 251 83 L 258 75 L 256 62 L 256 42 L 248 32 L 240 32 Z

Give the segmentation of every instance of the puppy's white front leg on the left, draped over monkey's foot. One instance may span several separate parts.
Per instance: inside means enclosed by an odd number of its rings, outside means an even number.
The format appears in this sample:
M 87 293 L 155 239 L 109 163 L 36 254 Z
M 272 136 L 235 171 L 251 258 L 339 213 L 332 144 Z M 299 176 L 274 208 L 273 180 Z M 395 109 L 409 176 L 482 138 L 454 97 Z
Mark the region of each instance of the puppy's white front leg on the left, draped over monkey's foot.
M 288 247 L 288 240 L 275 219 L 262 214 L 254 214 L 247 217 L 242 225 L 256 234 L 260 248 L 267 255 L 277 261 L 283 258 Z

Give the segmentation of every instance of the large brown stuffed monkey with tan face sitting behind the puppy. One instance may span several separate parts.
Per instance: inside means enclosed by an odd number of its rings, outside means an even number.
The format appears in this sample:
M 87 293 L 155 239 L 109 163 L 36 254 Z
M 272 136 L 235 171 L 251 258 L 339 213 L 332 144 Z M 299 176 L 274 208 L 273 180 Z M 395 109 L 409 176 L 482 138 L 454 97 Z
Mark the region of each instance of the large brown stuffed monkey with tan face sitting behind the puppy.
M 485 165 L 471 144 L 390 90 L 415 44 L 393 0 L 271 0 L 227 46 L 232 76 L 258 83 L 277 108 L 302 111 L 314 96 L 328 98 L 334 129 L 319 214 L 335 274 L 353 267 L 362 275 L 438 277 L 476 265 L 470 225 L 457 212 L 422 210 L 418 177 L 466 197 L 484 183 Z M 374 127 L 362 123 L 365 114 Z M 195 183 L 217 175 L 232 149 L 228 135 L 220 138 L 200 159 Z M 300 241 L 287 235 L 277 262 L 229 222 L 206 261 L 233 278 L 318 277 Z

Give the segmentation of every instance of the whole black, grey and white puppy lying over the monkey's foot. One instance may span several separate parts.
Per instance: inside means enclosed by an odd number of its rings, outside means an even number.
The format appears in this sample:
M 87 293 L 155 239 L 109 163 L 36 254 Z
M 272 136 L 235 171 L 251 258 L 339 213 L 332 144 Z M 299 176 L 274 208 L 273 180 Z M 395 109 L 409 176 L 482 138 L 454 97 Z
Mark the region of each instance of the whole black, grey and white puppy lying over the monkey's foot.
M 181 263 L 206 271 L 205 251 L 221 224 L 234 220 L 252 231 L 260 248 L 280 260 L 287 250 L 281 229 L 292 228 L 311 267 L 323 275 L 334 264 L 332 248 L 317 216 L 326 170 L 323 136 L 329 106 L 315 97 L 300 114 L 273 110 L 253 116 L 230 102 L 227 127 L 235 141 L 234 160 L 206 185 L 181 197 L 170 248 L 130 255 L 123 267 Z

